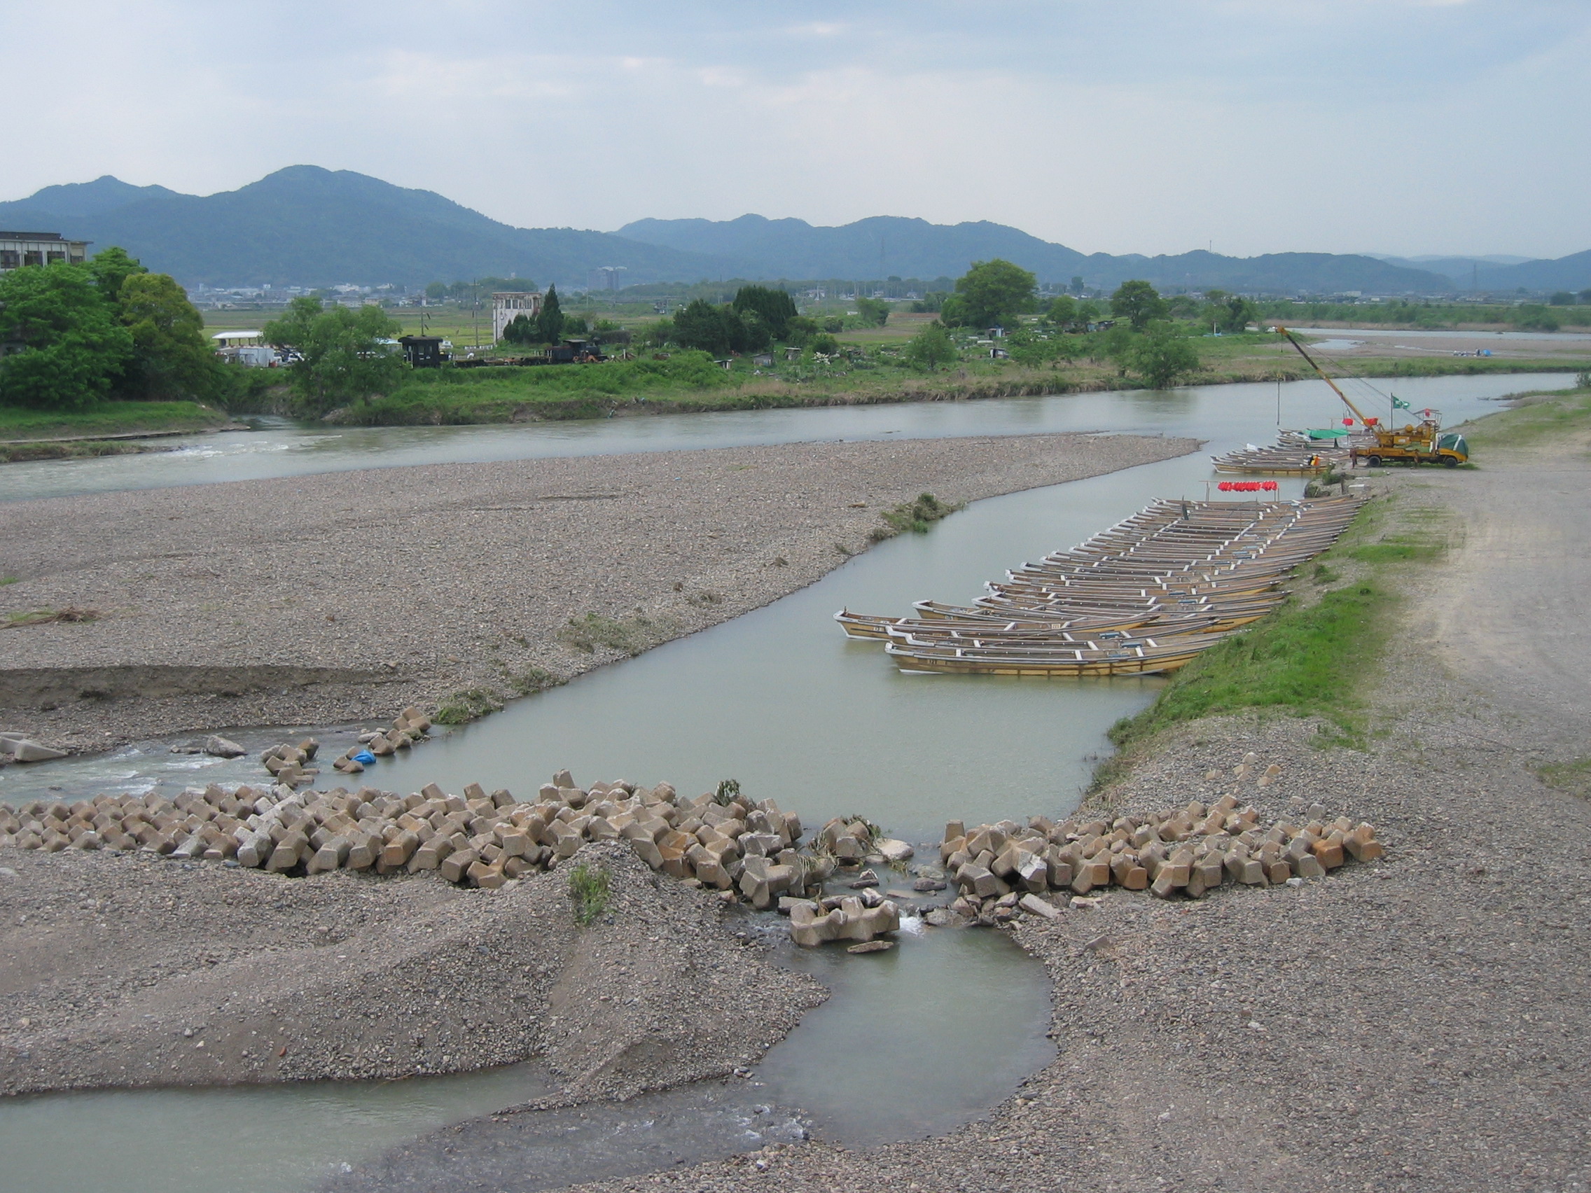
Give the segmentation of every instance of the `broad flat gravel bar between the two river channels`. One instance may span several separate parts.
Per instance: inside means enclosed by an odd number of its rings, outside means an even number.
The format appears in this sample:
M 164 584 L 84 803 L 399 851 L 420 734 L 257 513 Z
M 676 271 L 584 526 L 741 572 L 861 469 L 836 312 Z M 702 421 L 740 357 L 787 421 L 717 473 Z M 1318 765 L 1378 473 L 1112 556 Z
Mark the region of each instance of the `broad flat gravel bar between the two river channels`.
M 788 444 L 19 501 L 0 716 L 72 749 L 234 725 L 458 721 L 800 589 L 945 503 L 1192 439 Z

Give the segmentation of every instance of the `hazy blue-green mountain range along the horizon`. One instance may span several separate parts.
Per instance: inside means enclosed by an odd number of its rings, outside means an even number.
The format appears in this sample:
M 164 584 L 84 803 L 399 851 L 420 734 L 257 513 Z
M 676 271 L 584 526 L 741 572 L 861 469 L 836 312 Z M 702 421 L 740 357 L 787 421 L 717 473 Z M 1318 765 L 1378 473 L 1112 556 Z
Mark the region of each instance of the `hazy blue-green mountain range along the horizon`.
M 1429 261 L 1368 255 L 1268 253 L 1231 258 L 1079 253 L 1006 224 L 932 224 L 873 216 L 842 227 L 803 220 L 638 220 L 617 232 L 514 227 L 433 191 L 352 170 L 291 165 L 210 196 L 132 186 L 105 175 L 0 202 L 0 227 L 49 231 L 97 247 L 121 245 L 185 285 L 326 286 L 455 282 L 495 275 L 581 288 L 593 269 L 624 267 L 624 285 L 652 282 L 940 278 L 972 261 L 1006 258 L 1066 283 L 1114 288 L 1147 278 L 1161 288 L 1247 293 L 1437 294 L 1467 290 L 1583 290 L 1591 251 L 1558 261 Z

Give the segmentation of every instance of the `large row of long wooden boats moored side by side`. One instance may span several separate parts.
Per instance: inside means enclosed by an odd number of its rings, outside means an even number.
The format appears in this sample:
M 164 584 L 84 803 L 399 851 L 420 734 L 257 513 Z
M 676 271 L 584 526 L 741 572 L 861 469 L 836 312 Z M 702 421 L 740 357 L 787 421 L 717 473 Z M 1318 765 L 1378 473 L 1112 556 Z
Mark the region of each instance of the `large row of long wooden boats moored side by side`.
M 834 619 L 851 638 L 883 641 L 902 671 L 1174 671 L 1286 600 L 1286 579 L 1357 509 L 1357 498 L 1157 501 L 1007 573 L 972 604 L 918 601 L 913 617 L 840 609 Z

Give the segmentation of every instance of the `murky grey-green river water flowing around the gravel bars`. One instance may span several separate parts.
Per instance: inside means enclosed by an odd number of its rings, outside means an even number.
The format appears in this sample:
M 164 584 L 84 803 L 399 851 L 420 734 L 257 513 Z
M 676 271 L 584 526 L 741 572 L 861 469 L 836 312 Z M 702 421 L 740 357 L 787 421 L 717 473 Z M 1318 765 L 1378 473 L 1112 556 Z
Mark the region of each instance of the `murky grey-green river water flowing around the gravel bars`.
M 1457 423 L 1496 409 L 1494 401 L 1507 393 L 1570 383 L 1564 374 L 1400 379 L 1395 391 L 1416 409 L 1440 407 L 1448 423 Z M 517 428 L 366 433 L 275 426 L 208 436 L 177 453 L 84 461 L 83 468 L 78 461 L 11 464 L 0 469 L 0 485 L 3 496 L 18 499 L 396 463 L 886 436 L 1093 429 L 1206 439 L 1208 445 L 1188 457 L 978 501 L 929 534 L 880 544 L 764 609 L 520 700 L 363 776 L 401 791 L 433 779 L 450 791 L 479 781 L 520 795 L 558 767 L 573 768 L 584 781 L 667 778 L 687 792 L 733 776 L 754 797 L 797 810 L 807 824 L 854 811 L 894 835 L 928 843 L 950 818 L 1068 811 L 1087 786 L 1093 760 L 1109 748 L 1109 725 L 1152 700 L 1161 681 L 908 676 L 896 671 L 880 647 L 845 639 L 831 614 L 842 606 L 904 612 L 923 596 L 975 596 L 1006 568 L 1071 546 L 1157 496 L 1203 498 L 1214 479 L 1209 453 L 1268 441 L 1278 407 L 1284 425 L 1330 425 L 1335 401 L 1325 385 L 1298 382 Z M 35 480 L 14 469 L 29 469 Z M 1282 496 L 1300 490 L 1295 480 L 1281 485 Z M 318 732 L 333 749 L 358 727 L 304 729 Z M 282 733 L 240 730 L 239 736 L 253 746 Z M 259 778 L 251 759 L 173 756 L 167 743 L 145 743 L 97 757 L 11 767 L 0 775 L 0 799 Z M 768 1053 L 753 1080 L 659 1094 L 576 1120 L 566 1113 L 562 1120 L 515 1115 L 512 1126 L 477 1125 L 473 1129 L 485 1133 L 482 1155 L 500 1163 L 508 1142 L 515 1155 L 538 1156 L 549 1182 L 566 1183 L 757 1147 L 807 1129 L 848 1144 L 916 1137 L 975 1117 L 1053 1056 L 1045 1040 L 1048 981 L 1002 935 L 905 932 L 889 954 L 791 954 L 789 964 L 810 967 L 834 997 Z M 994 1066 L 986 1059 L 972 1064 L 956 1050 L 959 1039 L 977 1032 L 947 1024 L 991 1016 L 1002 1024 L 1007 1056 Z M 834 1064 L 835 1056 L 866 1059 Z M 971 1072 L 978 1078 L 969 1078 Z M 379 1172 L 382 1156 L 395 1155 L 390 1148 L 407 1147 L 410 1160 L 423 1161 L 426 1133 L 523 1101 L 531 1096 L 523 1090 L 536 1080 L 515 1069 L 375 1086 L 14 1099 L 0 1104 L 5 1183 L 19 1191 L 215 1188 L 215 1169 L 189 1156 L 194 1148 L 202 1152 L 205 1123 L 224 1115 L 248 1125 L 247 1139 L 231 1153 L 240 1168 L 232 1169 L 239 1179 L 228 1188 L 379 1187 L 360 1185 L 361 1172 Z M 493 1131 L 498 1136 L 487 1137 Z M 415 1136 L 422 1136 L 418 1144 L 404 1144 Z M 258 1155 L 248 1144 L 255 1137 Z M 73 1145 L 49 1142 L 60 1139 Z M 115 1145 L 118 1139 L 140 1142 L 129 1152 Z M 293 1163 L 278 1163 L 280 1153 L 267 1145 L 272 1139 L 293 1141 Z M 496 1179 L 490 1171 L 480 1176 Z

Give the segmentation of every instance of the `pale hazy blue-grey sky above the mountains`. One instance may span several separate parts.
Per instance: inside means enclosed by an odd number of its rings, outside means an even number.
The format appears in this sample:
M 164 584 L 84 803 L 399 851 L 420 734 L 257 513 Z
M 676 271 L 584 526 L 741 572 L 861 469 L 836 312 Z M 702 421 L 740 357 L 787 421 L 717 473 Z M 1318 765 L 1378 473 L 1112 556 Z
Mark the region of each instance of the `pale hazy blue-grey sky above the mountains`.
M 0 45 L 3 199 L 310 162 L 522 226 L 1591 248 L 1586 0 L 0 0 Z

